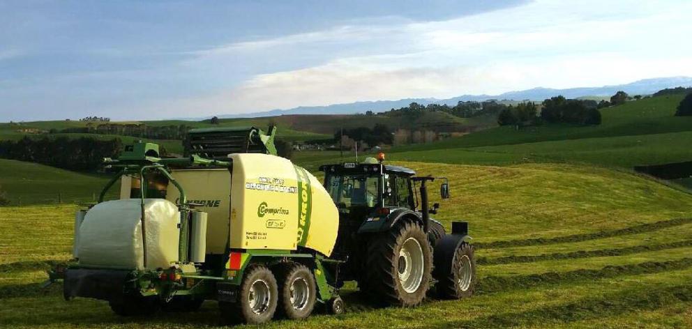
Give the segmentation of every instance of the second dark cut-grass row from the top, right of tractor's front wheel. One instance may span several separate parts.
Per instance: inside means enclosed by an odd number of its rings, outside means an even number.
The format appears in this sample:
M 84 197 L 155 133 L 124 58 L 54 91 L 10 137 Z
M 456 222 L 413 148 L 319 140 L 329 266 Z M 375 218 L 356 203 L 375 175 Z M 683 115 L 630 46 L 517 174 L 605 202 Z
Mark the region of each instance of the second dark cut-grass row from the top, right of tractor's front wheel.
M 479 257 L 476 264 L 479 265 L 500 265 L 509 263 L 531 263 L 534 261 L 551 261 L 558 259 L 580 259 L 590 257 L 624 256 L 626 254 L 637 254 L 640 252 L 654 252 L 659 250 L 675 249 L 679 247 L 692 246 L 692 240 L 682 240 L 672 243 L 661 243 L 658 245 L 635 245 L 632 247 L 589 250 L 578 252 L 564 252 L 555 254 L 539 254 L 527 256 L 507 256 L 497 258 Z

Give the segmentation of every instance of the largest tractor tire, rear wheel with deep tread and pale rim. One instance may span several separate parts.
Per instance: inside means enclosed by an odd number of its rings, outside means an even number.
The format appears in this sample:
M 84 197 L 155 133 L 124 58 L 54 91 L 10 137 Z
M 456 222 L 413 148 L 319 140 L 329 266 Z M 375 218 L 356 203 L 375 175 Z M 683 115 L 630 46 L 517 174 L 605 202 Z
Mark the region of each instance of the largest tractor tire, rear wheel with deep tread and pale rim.
M 407 251 L 409 258 L 405 256 Z M 375 237 L 368 245 L 367 257 L 366 292 L 371 296 L 386 305 L 403 307 L 419 305 L 426 297 L 433 270 L 433 252 L 420 224 L 409 220 L 398 222 Z

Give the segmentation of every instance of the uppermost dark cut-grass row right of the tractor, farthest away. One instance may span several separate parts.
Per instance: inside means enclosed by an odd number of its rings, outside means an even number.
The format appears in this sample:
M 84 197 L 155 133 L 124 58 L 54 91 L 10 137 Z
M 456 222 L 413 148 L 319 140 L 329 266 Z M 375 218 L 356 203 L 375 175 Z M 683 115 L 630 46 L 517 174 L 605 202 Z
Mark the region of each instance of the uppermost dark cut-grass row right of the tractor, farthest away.
M 692 223 L 692 218 L 675 218 L 672 220 L 662 220 L 647 224 L 640 224 L 624 229 L 610 231 L 600 231 L 586 234 L 572 234 L 569 236 L 557 236 L 555 238 L 529 238 L 521 240 L 500 240 L 490 243 L 474 243 L 476 249 L 506 248 L 506 247 L 527 247 L 529 245 L 552 245 L 555 243 L 571 243 L 586 240 L 597 240 L 601 238 L 612 238 L 615 236 L 626 236 L 630 234 L 640 234 L 649 231 L 658 231 L 669 227 L 677 227 Z

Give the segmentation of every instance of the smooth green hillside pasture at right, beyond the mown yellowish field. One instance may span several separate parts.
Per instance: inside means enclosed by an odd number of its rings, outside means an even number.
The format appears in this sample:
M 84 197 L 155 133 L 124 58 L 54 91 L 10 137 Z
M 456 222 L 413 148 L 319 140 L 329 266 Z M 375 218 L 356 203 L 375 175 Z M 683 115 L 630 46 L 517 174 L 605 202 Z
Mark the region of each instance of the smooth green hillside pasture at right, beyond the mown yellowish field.
M 390 160 L 510 165 L 526 162 L 588 163 L 631 169 L 635 165 L 692 160 L 692 117 L 674 116 L 683 95 L 647 98 L 602 109 L 595 126 L 497 127 L 430 144 L 397 146 Z M 373 155 L 361 154 L 361 157 Z M 347 159 L 353 159 L 352 152 Z M 299 163 L 316 169 L 338 153 L 300 152 Z

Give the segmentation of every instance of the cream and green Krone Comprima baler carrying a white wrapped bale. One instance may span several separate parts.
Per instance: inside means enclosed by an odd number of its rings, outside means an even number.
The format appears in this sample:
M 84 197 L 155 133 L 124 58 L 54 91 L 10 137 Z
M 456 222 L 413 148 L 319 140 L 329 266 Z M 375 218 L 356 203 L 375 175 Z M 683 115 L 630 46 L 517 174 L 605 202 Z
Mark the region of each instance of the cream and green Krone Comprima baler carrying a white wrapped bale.
M 247 323 L 301 319 L 315 303 L 343 311 L 324 270 L 338 211 L 305 169 L 262 153 L 160 158 L 149 143 L 107 162 L 118 173 L 77 213 L 75 261 L 52 275 L 66 298 L 107 300 L 123 316 L 218 300 Z M 120 198 L 104 201 L 118 181 Z

